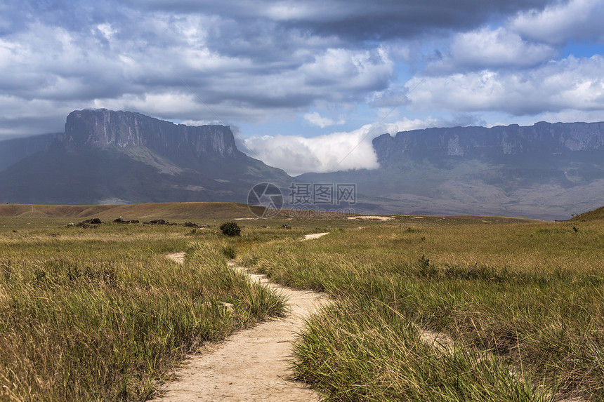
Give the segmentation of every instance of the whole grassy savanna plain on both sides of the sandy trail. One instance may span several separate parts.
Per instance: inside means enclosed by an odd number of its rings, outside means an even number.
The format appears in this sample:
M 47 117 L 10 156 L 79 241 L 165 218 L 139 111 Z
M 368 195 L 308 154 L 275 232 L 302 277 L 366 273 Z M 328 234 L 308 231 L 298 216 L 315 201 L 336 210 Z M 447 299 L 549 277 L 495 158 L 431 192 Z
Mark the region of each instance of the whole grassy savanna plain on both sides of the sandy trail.
M 331 295 L 293 362 L 327 400 L 604 400 L 597 214 L 280 216 L 239 220 L 234 238 L 70 221 L 0 217 L 1 399 L 144 400 L 183 354 L 284 314 L 279 295 L 228 269 L 235 257 Z M 330 233 L 300 241 L 313 232 Z M 166 258 L 177 251 L 185 264 Z

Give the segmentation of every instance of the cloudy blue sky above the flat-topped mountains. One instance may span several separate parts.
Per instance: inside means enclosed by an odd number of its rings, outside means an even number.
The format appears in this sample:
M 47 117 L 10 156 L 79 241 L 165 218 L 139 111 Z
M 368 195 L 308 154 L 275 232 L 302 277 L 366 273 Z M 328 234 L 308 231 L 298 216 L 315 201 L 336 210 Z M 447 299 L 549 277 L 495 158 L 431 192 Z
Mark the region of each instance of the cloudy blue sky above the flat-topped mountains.
M 601 0 L 3 0 L 0 140 L 100 108 L 231 126 L 291 175 L 383 133 L 604 121 Z

